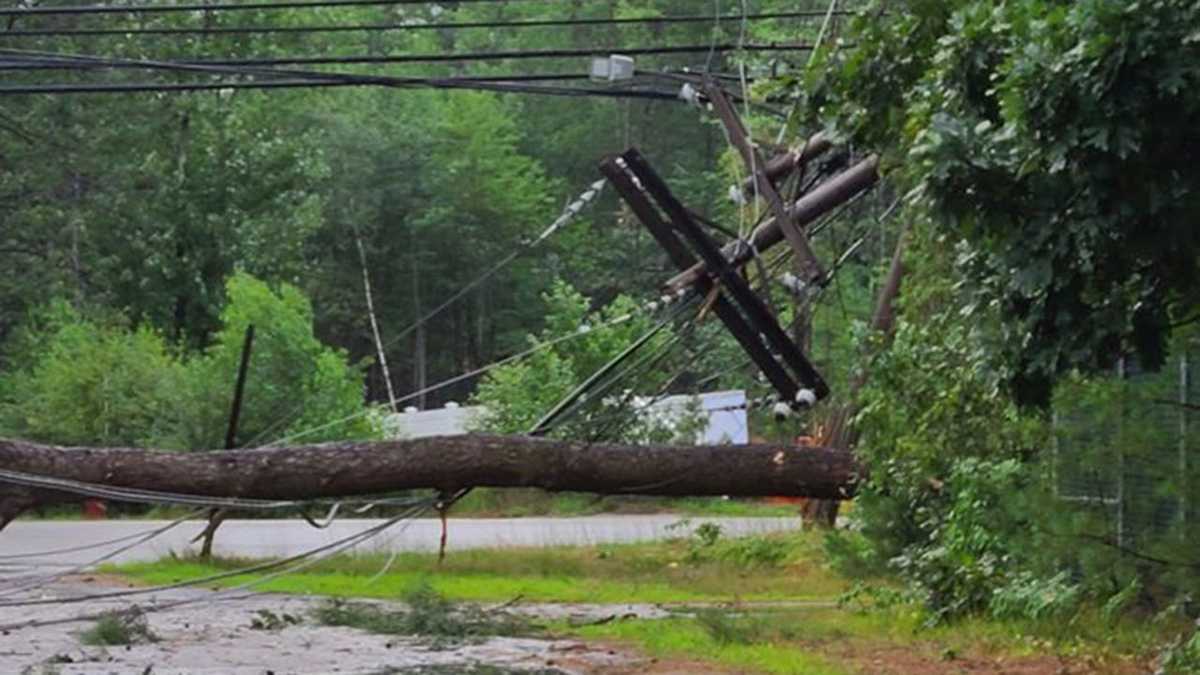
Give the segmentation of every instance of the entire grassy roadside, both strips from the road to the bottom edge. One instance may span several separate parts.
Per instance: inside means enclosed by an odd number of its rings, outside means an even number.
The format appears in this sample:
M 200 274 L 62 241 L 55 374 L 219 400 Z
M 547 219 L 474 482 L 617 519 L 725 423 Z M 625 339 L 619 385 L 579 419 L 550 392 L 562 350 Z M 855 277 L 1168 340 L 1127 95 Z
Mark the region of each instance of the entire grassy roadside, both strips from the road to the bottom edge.
M 145 584 L 197 579 L 248 561 L 162 560 L 110 568 Z M 823 565 L 818 534 L 728 539 L 701 527 L 654 544 L 343 556 L 271 580 L 262 590 L 331 598 L 409 597 L 428 589 L 448 602 L 652 603 L 662 620 L 557 621 L 551 634 L 635 646 L 738 673 L 1136 673 L 1160 627 L 1098 615 L 1060 622 L 985 619 L 928 628 L 911 604 L 841 607 L 852 586 Z M 233 585 L 248 577 L 226 579 Z M 688 603 L 692 607 L 688 608 Z M 696 604 L 703 607 L 697 608 Z M 881 664 L 886 664 L 882 667 Z

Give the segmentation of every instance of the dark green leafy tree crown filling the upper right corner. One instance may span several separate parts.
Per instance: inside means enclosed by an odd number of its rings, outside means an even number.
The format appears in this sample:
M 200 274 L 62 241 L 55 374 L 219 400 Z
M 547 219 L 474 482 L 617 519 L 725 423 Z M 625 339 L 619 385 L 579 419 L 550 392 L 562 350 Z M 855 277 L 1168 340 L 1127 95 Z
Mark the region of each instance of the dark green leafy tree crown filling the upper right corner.
M 808 83 L 966 243 L 1025 402 L 1123 350 L 1162 364 L 1195 313 L 1198 24 L 1190 0 L 913 1 L 864 12 Z

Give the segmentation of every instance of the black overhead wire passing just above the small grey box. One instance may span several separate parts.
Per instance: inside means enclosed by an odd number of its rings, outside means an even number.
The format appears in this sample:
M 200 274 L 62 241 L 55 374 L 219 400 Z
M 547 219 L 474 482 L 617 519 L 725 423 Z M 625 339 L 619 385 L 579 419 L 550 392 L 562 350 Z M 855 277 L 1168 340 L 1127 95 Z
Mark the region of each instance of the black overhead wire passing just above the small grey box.
M 602 54 L 622 54 L 629 56 L 650 54 L 700 54 L 715 52 L 803 52 L 812 47 L 805 43 L 785 44 L 676 44 L 666 47 L 595 47 L 589 49 L 515 49 L 499 52 L 461 52 L 445 54 L 360 54 L 354 56 L 281 56 L 271 59 L 187 59 L 161 61 L 187 66 L 311 66 L 311 65 L 349 65 L 349 64 L 436 64 L 463 61 L 498 61 L 514 59 L 565 59 L 598 56 Z M 0 49 L 0 53 L 7 53 Z M 96 58 L 91 61 L 79 59 L 60 59 L 46 56 L 38 59 L 0 61 L 0 70 L 89 70 L 89 68 L 139 68 L 146 67 L 136 59 L 104 61 Z

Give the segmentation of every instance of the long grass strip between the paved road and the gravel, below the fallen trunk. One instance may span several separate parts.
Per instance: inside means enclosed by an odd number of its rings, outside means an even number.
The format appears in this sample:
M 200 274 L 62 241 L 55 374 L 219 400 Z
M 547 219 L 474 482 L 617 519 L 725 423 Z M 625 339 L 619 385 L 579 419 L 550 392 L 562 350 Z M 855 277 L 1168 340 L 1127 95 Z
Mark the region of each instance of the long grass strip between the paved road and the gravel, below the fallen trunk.
M 757 542 L 758 544 L 746 544 Z M 772 542 L 769 544 L 763 542 Z M 785 560 L 748 566 L 760 548 Z M 301 573 L 257 586 L 264 591 L 332 597 L 398 598 L 420 584 L 455 601 L 680 603 L 755 601 L 832 601 L 847 585 L 814 561 L 820 540 L 808 533 L 720 539 L 710 546 L 695 540 L 587 548 L 450 551 L 438 565 L 432 554 L 401 554 L 386 574 L 384 555 L 338 556 Z M 131 563 L 119 572 L 145 584 L 198 579 L 251 565 L 246 560 L 163 558 Z M 220 581 L 248 581 L 239 575 Z

